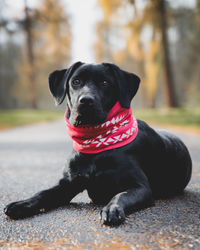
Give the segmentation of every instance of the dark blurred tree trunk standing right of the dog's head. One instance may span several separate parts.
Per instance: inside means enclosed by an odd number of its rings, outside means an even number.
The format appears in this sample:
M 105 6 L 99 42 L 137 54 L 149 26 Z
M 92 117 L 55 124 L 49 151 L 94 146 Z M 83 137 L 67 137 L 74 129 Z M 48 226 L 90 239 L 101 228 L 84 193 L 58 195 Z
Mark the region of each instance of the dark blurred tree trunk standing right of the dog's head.
M 166 94 L 166 103 L 168 107 L 176 107 L 177 101 L 174 89 L 174 78 L 170 61 L 169 41 L 167 35 L 167 13 L 165 0 L 159 0 L 160 12 L 160 29 L 163 47 L 163 64 L 164 64 L 164 86 Z

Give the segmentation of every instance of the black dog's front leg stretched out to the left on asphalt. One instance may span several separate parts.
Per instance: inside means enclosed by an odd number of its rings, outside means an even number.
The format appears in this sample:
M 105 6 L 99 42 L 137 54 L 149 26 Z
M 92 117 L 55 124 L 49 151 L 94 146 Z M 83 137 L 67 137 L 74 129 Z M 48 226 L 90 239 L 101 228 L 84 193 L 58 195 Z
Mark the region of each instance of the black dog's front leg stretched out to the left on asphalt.
M 63 178 L 59 184 L 35 194 L 33 197 L 10 203 L 4 209 L 12 219 L 22 219 L 68 204 L 84 187 L 80 179 L 68 181 Z

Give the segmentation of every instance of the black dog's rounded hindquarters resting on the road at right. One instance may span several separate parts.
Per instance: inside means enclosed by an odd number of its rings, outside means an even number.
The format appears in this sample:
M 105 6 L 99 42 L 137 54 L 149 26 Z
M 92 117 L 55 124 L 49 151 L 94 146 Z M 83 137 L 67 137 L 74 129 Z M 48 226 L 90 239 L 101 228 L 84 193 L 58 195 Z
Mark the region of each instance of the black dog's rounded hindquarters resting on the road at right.
M 151 186 L 154 198 L 172 197 L 182 193 L 190 181 L 192 160 L 185 144 L 175 135 L 158 130 L 164 144 L 164 155 L 157 171 L 156 181 Z

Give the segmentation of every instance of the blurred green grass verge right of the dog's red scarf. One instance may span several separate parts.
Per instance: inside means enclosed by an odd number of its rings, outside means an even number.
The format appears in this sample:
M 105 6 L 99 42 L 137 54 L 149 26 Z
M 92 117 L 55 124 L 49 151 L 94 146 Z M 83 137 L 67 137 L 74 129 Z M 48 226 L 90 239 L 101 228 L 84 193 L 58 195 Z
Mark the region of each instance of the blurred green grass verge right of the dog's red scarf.
M 138 119 L 151 124 L 170 125 L 200 132 L 200 108 L 135 110 L 134 114 Z

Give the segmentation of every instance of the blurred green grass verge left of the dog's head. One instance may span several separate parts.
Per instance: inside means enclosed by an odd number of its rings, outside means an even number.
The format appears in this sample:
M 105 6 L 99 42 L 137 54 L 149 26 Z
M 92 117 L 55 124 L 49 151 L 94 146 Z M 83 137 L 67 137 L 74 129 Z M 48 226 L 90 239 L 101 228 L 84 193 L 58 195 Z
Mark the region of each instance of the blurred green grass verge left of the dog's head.
M 48 122 L 64 115 L 60 111 L 47 110 L 0 110 L 0 129 L 12 128 L 38 122 Z

